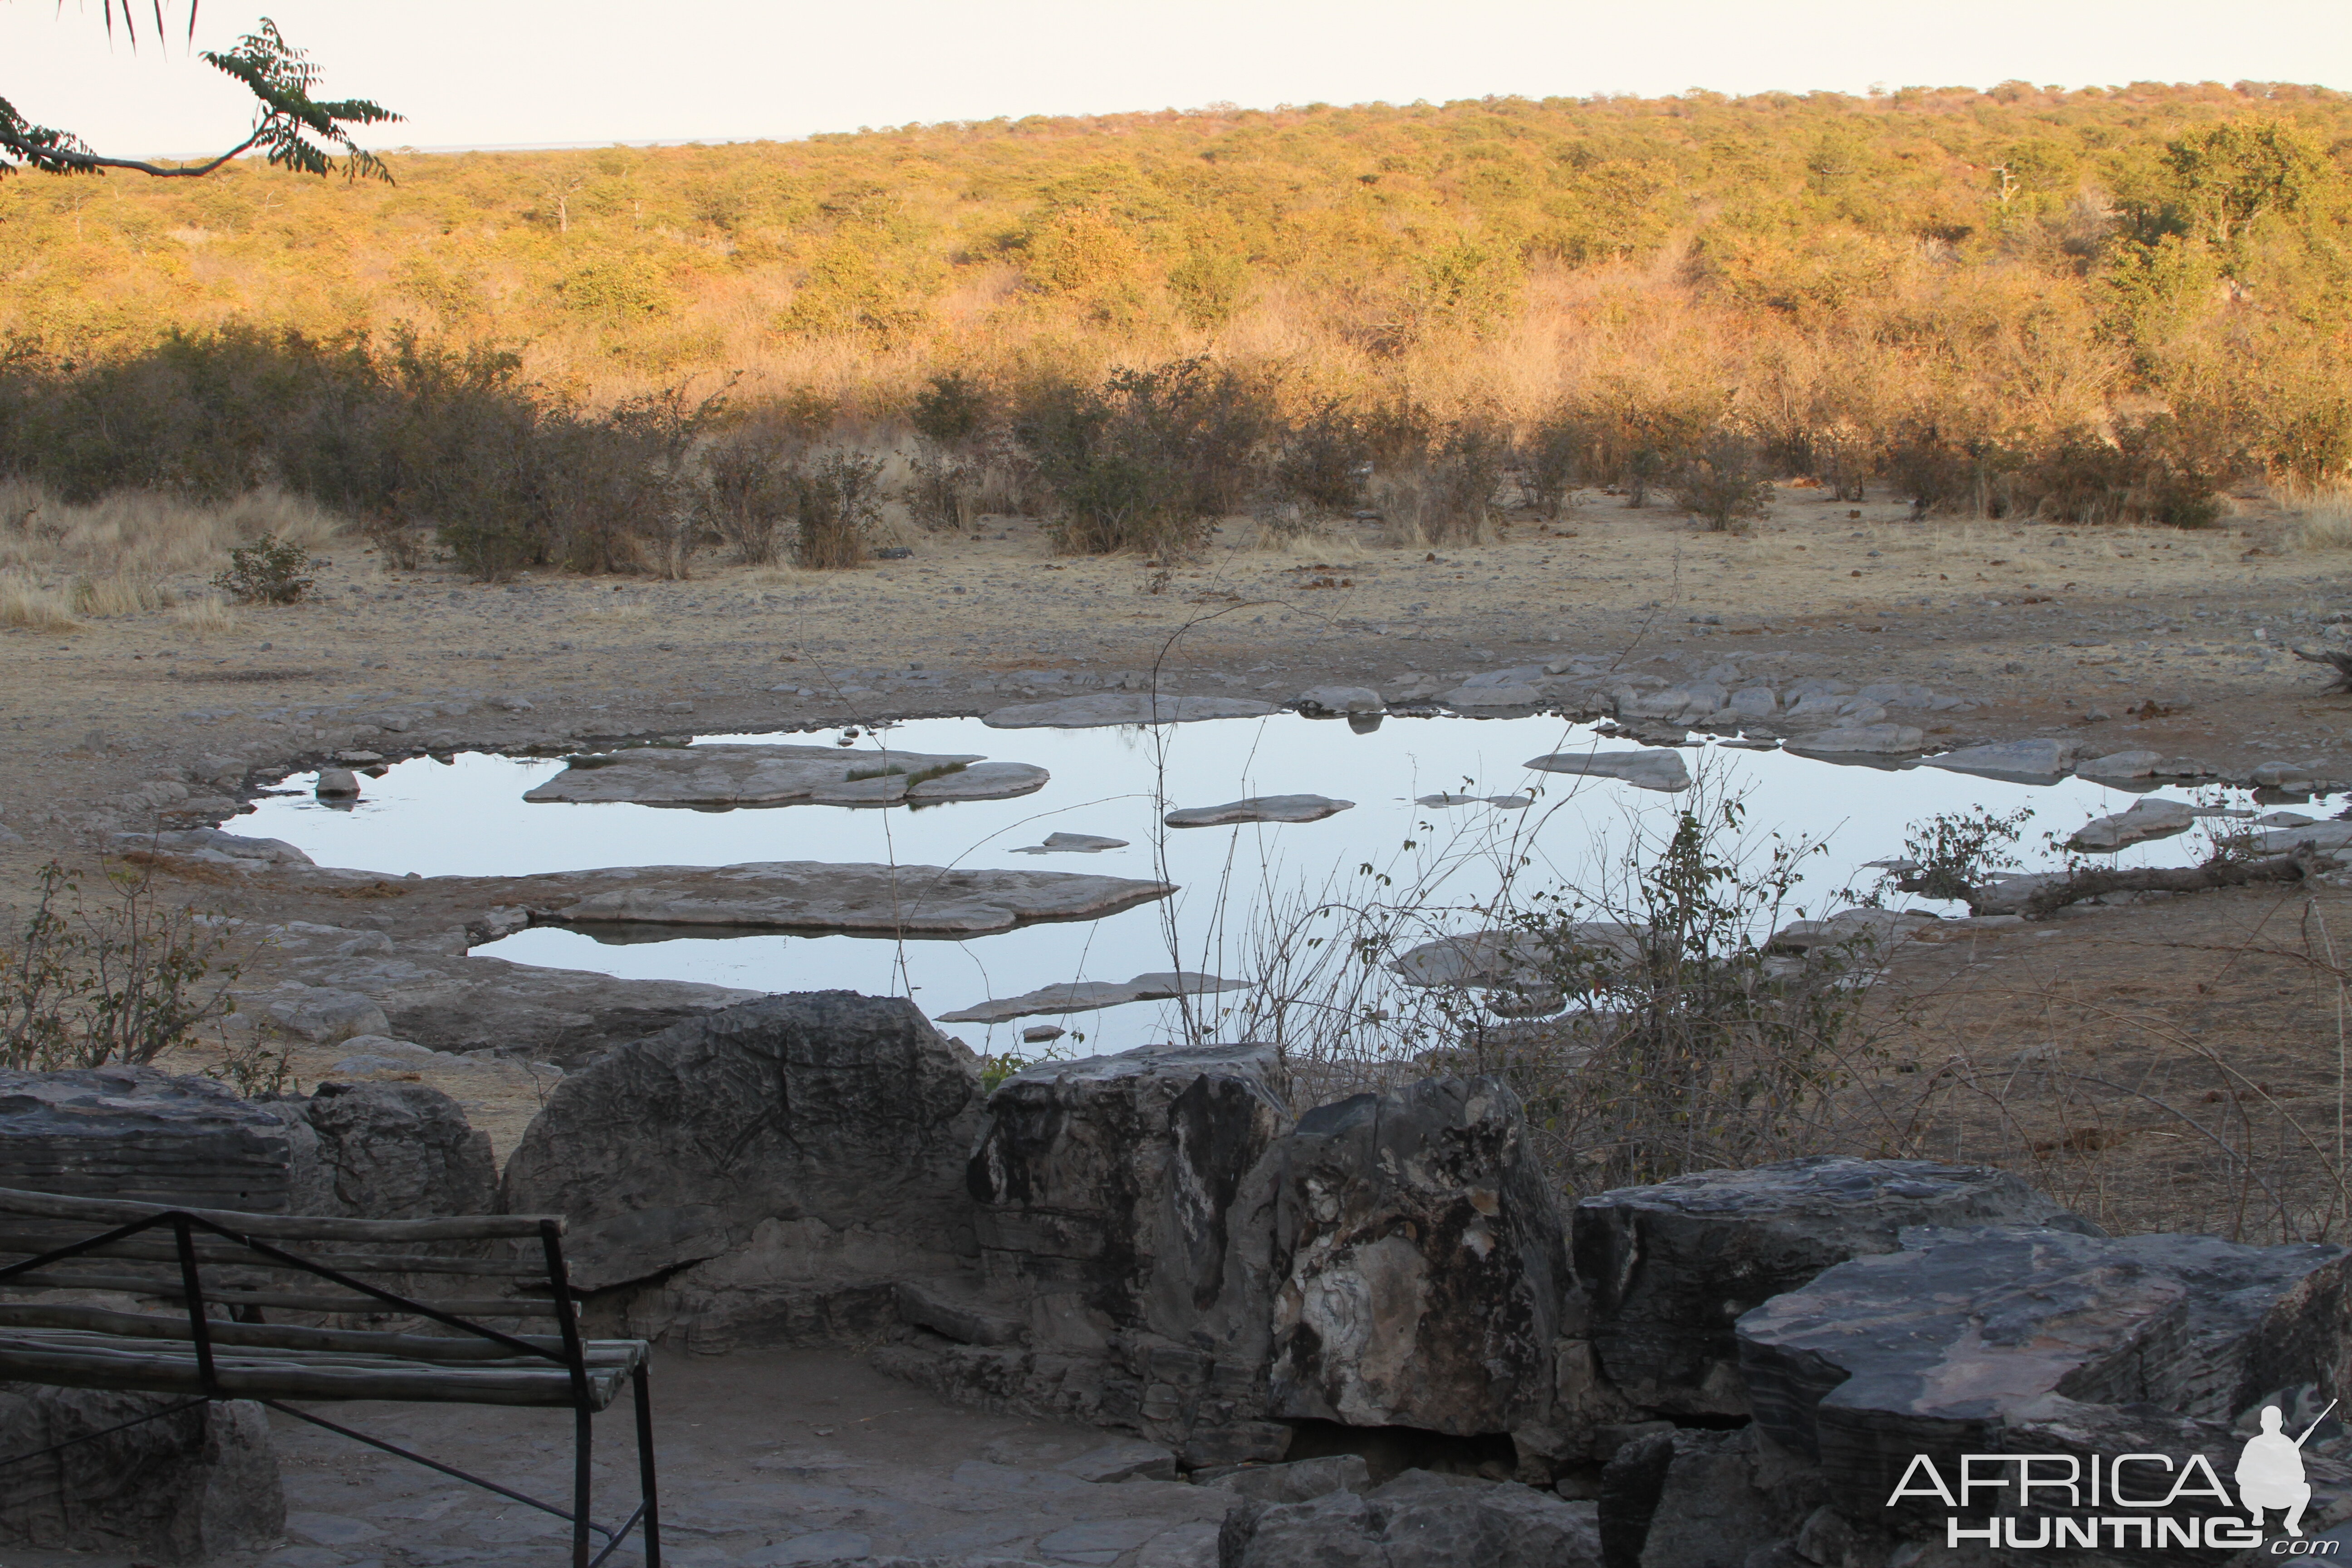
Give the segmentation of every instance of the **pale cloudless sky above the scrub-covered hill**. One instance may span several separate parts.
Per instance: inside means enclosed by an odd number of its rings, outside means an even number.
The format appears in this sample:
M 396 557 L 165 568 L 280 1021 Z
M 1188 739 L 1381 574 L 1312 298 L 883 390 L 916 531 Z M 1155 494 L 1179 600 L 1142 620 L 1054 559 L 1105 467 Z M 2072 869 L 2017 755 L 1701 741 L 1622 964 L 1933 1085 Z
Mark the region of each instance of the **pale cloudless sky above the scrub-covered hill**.
M 132 0 L 151 5 L 151 0 Z M 252 99 L 101 0 L 0 0 L 0 96 L 111 155 L 235 143 Z M 910 120 L 1486 94 L 1860 94 L 2002 80 L 2352 87 L 2347 0 L 202 0 L 256 16 L 327 96 L 409 118 L 369 146 L 739 141 Z

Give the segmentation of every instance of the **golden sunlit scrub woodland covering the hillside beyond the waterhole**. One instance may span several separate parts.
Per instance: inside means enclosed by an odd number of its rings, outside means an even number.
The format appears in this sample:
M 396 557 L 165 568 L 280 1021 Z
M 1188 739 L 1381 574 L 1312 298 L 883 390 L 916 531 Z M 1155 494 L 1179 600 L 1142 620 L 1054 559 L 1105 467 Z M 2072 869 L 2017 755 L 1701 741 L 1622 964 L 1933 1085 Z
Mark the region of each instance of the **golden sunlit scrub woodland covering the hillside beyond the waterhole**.
M 0 463 L 75 498 L 275 482 L 485 569 L 661 569 L 694 538 L 590 515 L 668 508 L 823 564 L 875 475 L 811 444 L 910 428 L 910 510 L 1049 512 L 1070 548 L 1244 503 L 1444 536 L 1505 475 L 1538 508 L 1672 487 L 1715 527 L 1764 477 L 2199 524 L 2237 477 L 2352 461 L 2352 101 L 2326 89 L 1211 108 L 386 162 L 397 183 L 0 183 Z M 574 461 L 614 440 L 626 475 Z

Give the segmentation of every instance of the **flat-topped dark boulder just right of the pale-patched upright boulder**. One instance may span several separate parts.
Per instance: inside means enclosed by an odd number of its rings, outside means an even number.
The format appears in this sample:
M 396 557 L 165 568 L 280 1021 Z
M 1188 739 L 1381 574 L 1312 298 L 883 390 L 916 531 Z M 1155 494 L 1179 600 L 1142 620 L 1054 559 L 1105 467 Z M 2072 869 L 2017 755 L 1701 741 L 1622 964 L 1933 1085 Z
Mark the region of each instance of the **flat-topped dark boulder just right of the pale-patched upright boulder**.
M 1816 1154 L 1700 1171 L 1576 1206 L 1576 1279 L 1616 1389 L 1675 1415 L 1745 1415 L 1733 1319 L 1907 1225 L 2096 1227 L 2006 1171 Z

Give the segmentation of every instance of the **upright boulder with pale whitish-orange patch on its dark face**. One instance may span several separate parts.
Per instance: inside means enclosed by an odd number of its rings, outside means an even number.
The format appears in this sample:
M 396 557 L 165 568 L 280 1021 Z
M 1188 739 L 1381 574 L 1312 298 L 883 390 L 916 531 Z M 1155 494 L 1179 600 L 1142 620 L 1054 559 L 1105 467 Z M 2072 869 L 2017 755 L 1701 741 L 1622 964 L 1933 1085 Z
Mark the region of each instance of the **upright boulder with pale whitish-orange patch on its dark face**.
M 1277 1227 L 1275 1415 L 1451 1434 L 1545 1415 L 1566 1248 L 1501 1079 L 1310 1110 Z

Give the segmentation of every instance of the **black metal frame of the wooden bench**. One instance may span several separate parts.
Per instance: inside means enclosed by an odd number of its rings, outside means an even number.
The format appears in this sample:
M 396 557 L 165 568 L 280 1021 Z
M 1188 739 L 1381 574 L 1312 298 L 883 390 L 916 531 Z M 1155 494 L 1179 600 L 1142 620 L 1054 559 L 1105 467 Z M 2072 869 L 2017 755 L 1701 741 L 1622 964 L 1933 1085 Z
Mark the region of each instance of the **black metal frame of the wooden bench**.
M 637 1366 L 630 1368 L 630 1399 L 637 1406 L 637 1509 L 628 1519 L 623 1519 L 621 1528 L 616 1528 L 616 1530 L 607 1530 L 604 1526 L 595 1523 L 588 1516 L 588 1505 L 590 1505 L 590 1497 L 588 1497 L 588 1490 L 590 1490 L 590 1483 L 588 1483 L 588 1458 L 590 1458 L 590 1448 L 593 1448 L 593 1415 L 595 1415 L 595 1410 L 588 1403 L 588 1354 L 586 1354 L 586 1345 L 581 1340 L 579 1314 L 574 1309 L 572 1279 L 564 1272 L 562 1232 L 555 1225 L 555 1220 L 541 1220 L 539 1222 L 539 1246 L 541 1246 L 541 1255 L 546 1258 L 546 1265 L 548 1265 L 548 1288 L 553 1293 L 553 1302 L 550 1305 L 555 1307 L 555 1324 L 557 1324 L 557 1333 L 562 1338 L 562 1349 L 560 1352 L 557 1349 L 548 1349 L 543 1345 L 532 1345 L 529 1340 L 515 1338 L 510 1333 L 501 1333 L 496 1328 L 487 1328 L 482 1324 L 473 1324 L 473 1321 L 468 1321 L 463 1316 L 456 1316 L 452 1312 L 442 1312 L 437 1307 L 428 1307 L 426 1302 L 414 1302 L 414 1300 L 409 1300 L 405 1295 L 395 1295 L 393 1291 L 383 1291 L 379 1286 L 372 1286 L 365 1279 L 353 1279 L 348 1274 L 329 1269 L 322 1262 L 313 1262 L 308 1258 L 299 1258 L 294 1253 L 280 1251 L 280 1248 L 275 1248 L 275 1246 L 270 1246 L 266 1241 L 256 1241 L 254 1237 L 238 1234 L 238 1232 L 233 1232 L 233 1229 L 228 1229 L 223 1225 L 216 1225 L 214 1220 L 207 1220 L 200 1213 L 186 1213 L 181 1208 L 165 1208 L 165 1211 L 146 1215 L 141 1220 L 132 1220 L 129 1225 L 118 1225 L 115 1229 L 108 1229 L 108 1232 L 101 1232 L 96 1237 L 87 1237 L 82 1241 L 75 1241 L 71 1246 L 61 1246 L 56 1251 L 42 1253 L 38 1258 L 26 1260 L 26 1262 L 12 1262 L 7 1267 L 0 1267 L 0 1288 L 5 1288 L 16 1274 L 26 1274 L 31 1269 L 38 1269 L 38 1267 L 45 1267 L 45 1265 L 52 1265 L 52 1262 L 61 1262 L 66 1258 L 75 1258 L 80 1253 L 89 1253 L 94 1248 L 111 1246 L 115 1241 L 122 1241 L 127 1237 L 136 1237 L 139 1232 L 155 1229 L 155 1227 L 169 1227 L 172 1229 L 172 1239 L 176 1244 L 181 1295 L 186 1295 L 186 1305 L 188 1305 L 188 1340 L 195 1345 L 195 1368 L 198 1368 L 198 1380 L 200 1380 L 200 1385 L 202 1385 L 205 1392 L 198 1394 L 195 1399 L 183 1399 L 181 1403 L 167 1406 L 167 1408 L 155 1410 L 151 1415 L 141 1415 L 136 1420 L 127 1420 L 122 1425 L 106 1427 L 103 1432 L 85 1432 L 82 1436 L 71 1436 L 64 1443 L 49 1443 L 47 1448 L 35 1448 L 31 1453 L 9 1455 L 9 1458 L 0 1460 L 0 1469 L 5 1469 L 9 1465 L 21 1465 L 26 1460 L 38 1460 L 38 1458 L 42 1458 L 47 1453 L 56 1453 L 59 1448 L 73 1448 L 75 1443 L 87 1443 L 92 1439 L 101 1439 L 101 1436 L 108 1436 L 113 1432 L 122 1432 L 127 1427 L 139 1427 L 139 1425 L 146 1425 L 151 1420 L 162 1420 L 165 1415 L 179 1415 L 181 1410 L 188 1410 L 193 1406 L 214 1403 L 214 1401 L 221 1401 L 221 1399 L 247 1399 L 245 1394 L 226 1394 L 226 1392 L 221 1392 L 216 1373 L 214 1373 L 214 1366 L 212 1366 L 212 1328 L 209 1328 L 209 1319 L 205 1316 L 202 1265 L 198 1262 L 198 1255 L 195 1255 L 195 1232 L 202 1229 L 202 1232 L 207 1232 L 212 1237 L 221 1237 L 223 1241 L 233 1241 L 233 1244 L 238 1244 L 238 1246 L 242 1246 L 242 1248 L 247 1248 L 252 1253 L 259 1253 L 261 1258 L 268 1258 L 273 1265 L 278 1265 L 282 1269 L 301 1269 L 306 1274 L 315 1274 L 315 1276 L 320 1276 L 320 1279 L 325 1279 L 329 1284 L 343 1286 L 346 1291 L 358 1291 L 362 1295 L 372 1295 L 379 1302 L 383 1302 L 386 1307 L 393 1307 L 393 1309 L 397 1309 L 402 1314 L 433 1319 L 435 1324 L 442 1324 L 447 1328 L 456 1328 L 461 1333 L 480 1335 L 480 1338 L 492 1340 L 494 1345 L 503 1345 L 503 1347 L 508 1347 L 508 1349 L 513 1349 L 517 1354 L 539 1356 L 539 1359 L 553 1361 L 553 1363 L 562 1366 L 564 1371 L 569 1371 L 572 1373 L 572 1509 L 564 1512 L 564 1509 L 555 1507 L 553 1502 L 541 1502 L 539 1497 L 529 1497 L 529 1495 L 517 1493 L 513 1488 L 499 1486 L 496 1481 L 485 1481 L 482 1476 L 468 1474 L 468 1472 L 463 1472 L 463 1469 L 459 1469 L 454 1465 L 442 1465 L 440 1460 L 428 1460 L 421 1453 L 412 1453 L 412 1450 L 400 1448 L 395 1443 L 386 1443 L 383 1439 L 367 1436 L 365 1432 L 353 1432 L 350 1427 L 341 1427 L 341 1425 L 336 1425 L 332 1420 L 325 1420 L 320 1415 L 310 1415 L 308 1410 L 296 1410 L 294 1406 L 280 1403 L 275 1399 L 256 1399 L 256 1403 L 261 1403 L 261 1406 L 266 1406 L 270 1410 L 278 1410 L 280 1415 L 292 1415 L 294 1420 L 310 1422 L 313 1427 L 325 1427 L 327 1432 L 334 1432 L 339 1436 L 348 1436 L 348 1439 L 353 1439 L 358 1443 L 367 1443 L 369 1448 L 381 1448 L 383 1453 L 390 1453 L 390 1455 L 397 1455 L 402 1460 L 409 1460 L 412 1465 L 423 1465 L 426 1469 L 437 1469 L 445 1476 L 454 1476 L 459 1481 L 466 1481 L 468 1486 L 480 1486 L 482 1490 L 496 1493 L 501 1497 L 510 1497 L 513 1502 L 522 1502 L 522 1505 L 534 1507 L 534 1509 L 539 1509 L 543 1514 L 555 1514 L 557 1519 L 562 1519 L 564 1523 L 572 1526 L 572 1568 L 600 1568 L 604 1563 L 604 1559 L 612 1556 L 621 1547 L 623 1540 L 628 1540 L 628 1533 L 635 1530 L 635 1528 L 640 1528 L 640 1526 L 642 1526 L 642 1533 L 644 1533 L 644 1568 L 661 1568 L 661 1507 L 659 1507 L 659 1500 L 656 1500 L 659 1493 L 654 1488 L 654 1403 L 652 1403 L 652 1385 L 649 1385 L 649 1378 L 647 1378 L 647 1363 L 644 1361 L 637 1361 Z M 560 1406 L 550 1406 L 550 1408 L 560 1408 Z M 588 1535 L 590 1533 L 604 1537 L 604 1549 L 597 1552 L 595 1556 L 588 1554 L 588 1547 L 590 1547 Z

